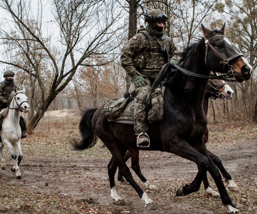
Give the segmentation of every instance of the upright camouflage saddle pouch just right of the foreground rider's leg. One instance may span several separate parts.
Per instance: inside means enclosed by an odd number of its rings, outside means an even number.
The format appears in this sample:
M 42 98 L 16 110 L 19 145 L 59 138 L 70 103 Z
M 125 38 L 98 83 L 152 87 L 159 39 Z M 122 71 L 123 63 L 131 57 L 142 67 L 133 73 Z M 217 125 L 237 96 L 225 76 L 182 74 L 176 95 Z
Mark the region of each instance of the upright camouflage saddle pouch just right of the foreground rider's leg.
M 163 118 L 163 94 L 161 88 L 157 87 L 151 97 L 152 108 L 148 112 L 148 123 L 161 121 Z

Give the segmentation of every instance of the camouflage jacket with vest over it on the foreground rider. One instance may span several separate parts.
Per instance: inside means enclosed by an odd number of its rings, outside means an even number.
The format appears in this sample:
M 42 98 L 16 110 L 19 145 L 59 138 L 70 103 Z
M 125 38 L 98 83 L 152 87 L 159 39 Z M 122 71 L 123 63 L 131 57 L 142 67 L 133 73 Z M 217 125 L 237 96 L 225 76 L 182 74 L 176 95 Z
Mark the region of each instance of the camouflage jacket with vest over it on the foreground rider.
M 122 49 L 120 56 L 122 67 L 131 77 L 140 73 L 155 79 L 166 63 L 161 50 L 162 44 L 166 45 L 170 59 L 180 59 L 176 55 L 177 48 L 170 37 L 156 38 L 151 36 L 145 28 L 141 28 Z

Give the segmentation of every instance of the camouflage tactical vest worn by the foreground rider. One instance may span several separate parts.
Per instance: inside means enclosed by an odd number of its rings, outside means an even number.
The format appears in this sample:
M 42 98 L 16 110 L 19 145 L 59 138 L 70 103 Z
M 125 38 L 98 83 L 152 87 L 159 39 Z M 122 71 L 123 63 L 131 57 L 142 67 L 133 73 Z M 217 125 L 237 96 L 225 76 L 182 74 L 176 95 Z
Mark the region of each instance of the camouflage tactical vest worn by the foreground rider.
M 155 79 L 162 66 L 167 63 L 162 52 L 162 44 L 165 44 L 169 52 L 168 38 L 165 35 L 161 38 L 154 38 L 146 30 L 142 30 L 139 33 L 144 34 L 148 38 L 149 44 L 146 49 L 137 54 L 133 59 L 133 63 L 141 74 Z

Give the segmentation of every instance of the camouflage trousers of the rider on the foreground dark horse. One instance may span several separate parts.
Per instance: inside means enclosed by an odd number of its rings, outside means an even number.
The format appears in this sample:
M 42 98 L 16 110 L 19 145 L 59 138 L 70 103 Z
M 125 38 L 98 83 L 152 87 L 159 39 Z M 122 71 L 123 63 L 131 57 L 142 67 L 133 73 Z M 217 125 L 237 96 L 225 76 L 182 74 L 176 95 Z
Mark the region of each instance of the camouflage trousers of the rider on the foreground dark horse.
M 147 85 L 143 86 L 141 88 L 137 88 L 135 86 L 135 83 L 132 82 L 129 88 L 129 93 L 132 97 L 135 97 L 137 99 L 137 102 L 135 103 L 135 133 L 136 135 L 139 135 L 141 132 L 143 132 L 144 128 L 144 122 L 146 120 L 146 97 L 147 92 L 151 88 L 151 81 L 148 78 L 145 78 L 147 81 Z M 147 126 L 146 126 L 146 132 L 147 132 Z

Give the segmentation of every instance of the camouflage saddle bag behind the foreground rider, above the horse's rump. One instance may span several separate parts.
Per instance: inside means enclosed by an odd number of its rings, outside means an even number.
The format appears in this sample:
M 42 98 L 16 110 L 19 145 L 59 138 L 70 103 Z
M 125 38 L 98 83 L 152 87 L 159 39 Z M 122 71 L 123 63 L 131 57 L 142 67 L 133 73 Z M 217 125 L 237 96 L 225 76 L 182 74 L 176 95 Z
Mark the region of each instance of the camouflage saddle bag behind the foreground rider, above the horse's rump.
M 129 102 L 130 97 L 128 98 L 120 98 L 119 100 L 109 100 L 105 103 L 103 109 L 101 110 L 101 114 L 107 119 L 116 119 L 119 117 Z

